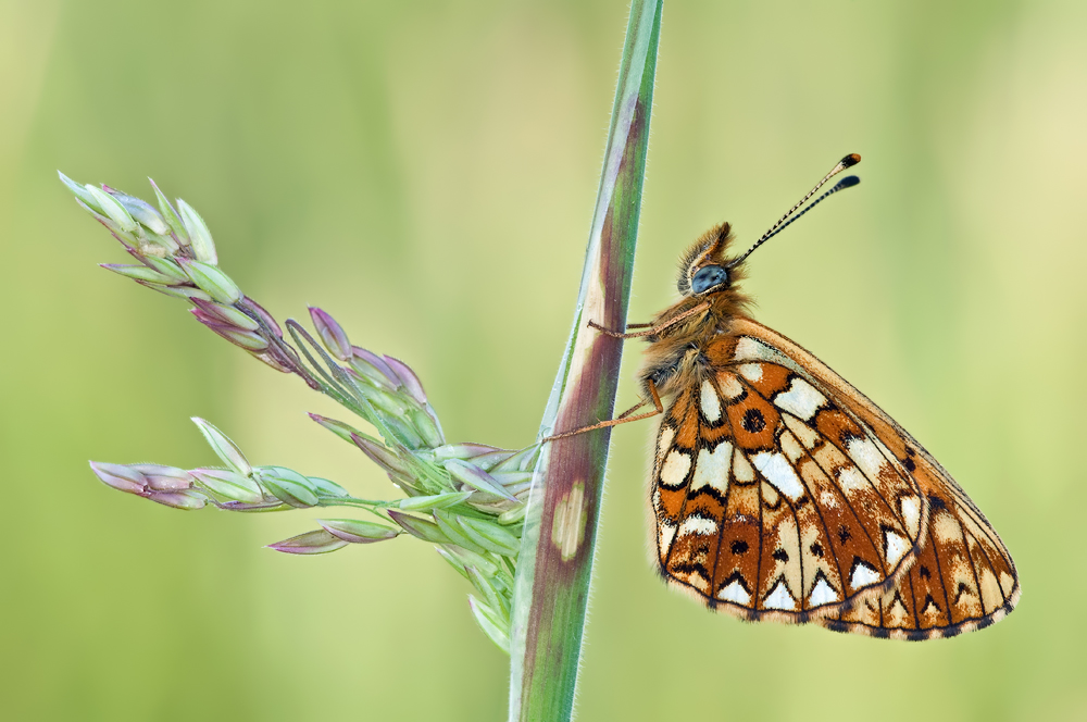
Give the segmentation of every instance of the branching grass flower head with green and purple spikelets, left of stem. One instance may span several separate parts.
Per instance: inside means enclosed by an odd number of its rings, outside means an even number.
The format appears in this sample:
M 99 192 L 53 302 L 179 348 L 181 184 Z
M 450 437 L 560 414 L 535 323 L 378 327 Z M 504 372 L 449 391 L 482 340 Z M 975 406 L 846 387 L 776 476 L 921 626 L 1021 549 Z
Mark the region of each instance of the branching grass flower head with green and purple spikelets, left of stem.
M 282 373 L 295 374 L 376 430 L 310 414 L 361 450 L 405 496 L 360 499 L 335 482 L 285 466 L 253 465 L 237 444 L 193 419 L 221 468 L 91 462 L 104 484 L 175 509 L 215 507 L 265 512 L 347 507 L 368 519 L 320 519 L 318 528 L 270 544 L 291 555 L 318 555 L 351 545 L 415 536 L 437 546 L 478 596 L 468 606 L 480 628 L 508 649 L 513 572 L 532 468 L 539 445 L 521 451 L 483 444 L 448 444 L 423 384 L 403 361 L 351 344 L 347 332 L 320 308 L 310 308 L 315 335 L 297 321 L 279 324 L 218 267 L 211 231 L 154 182 L 158 208 L 109 186 L 79 185 L 60 174 L 79 206 L 121 241 L 135 264 L 109 271 L 191 304 L 189 312 L 222 338 Z M 286 334 L 284 334 L 286 327 Z

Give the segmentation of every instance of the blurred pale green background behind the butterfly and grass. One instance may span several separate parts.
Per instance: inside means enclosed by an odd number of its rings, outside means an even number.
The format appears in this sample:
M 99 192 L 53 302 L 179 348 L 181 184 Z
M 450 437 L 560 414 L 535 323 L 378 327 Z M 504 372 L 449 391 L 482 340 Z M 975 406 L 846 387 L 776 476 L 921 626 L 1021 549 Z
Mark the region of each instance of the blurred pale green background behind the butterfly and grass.
M 88 459 L 212 463 L 200 415 L 255 463 L 390 494 L 305 418 L 330 402 L 96 269 L 125 259 L 55 170 L 143 197 L 154 176 L 277 316 L 321 304 L 416 369 L 451 439 L 521 447 L 625 22 L 621 0 L 0 1 L 0 717 L 504 719 L 507 659 L 426 545 L 293 558 L 262 545 L 305 512 L 97 483 Z M 1078 0 L 665 7 L 632 320 L 697 234 L 752 239 L 860 152 L 858 189 L 752 258 L 757 316 L 951 470 L 1024 595 L 926 644 L 713 615 L 648 563 L 651 430 L 624 427 L 579 719 L 1087 719 L 1085 37 Z

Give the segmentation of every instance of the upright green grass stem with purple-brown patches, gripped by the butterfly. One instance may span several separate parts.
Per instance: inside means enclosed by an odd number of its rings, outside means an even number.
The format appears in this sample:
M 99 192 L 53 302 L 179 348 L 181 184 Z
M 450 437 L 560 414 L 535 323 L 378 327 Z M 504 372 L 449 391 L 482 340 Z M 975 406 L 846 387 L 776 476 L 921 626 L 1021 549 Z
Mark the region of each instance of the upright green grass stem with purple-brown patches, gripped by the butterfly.
M 625 327 L 662 0 L 634 0 L 574 326 L 540 426 L 541 435 L 610 419 L 622 341 L 588 328 Z M 544 446 L 528 500 L 510 646 L 510 721 L 564 721 L 573 711 L 596 531 L 608 462 L 608 428 Z

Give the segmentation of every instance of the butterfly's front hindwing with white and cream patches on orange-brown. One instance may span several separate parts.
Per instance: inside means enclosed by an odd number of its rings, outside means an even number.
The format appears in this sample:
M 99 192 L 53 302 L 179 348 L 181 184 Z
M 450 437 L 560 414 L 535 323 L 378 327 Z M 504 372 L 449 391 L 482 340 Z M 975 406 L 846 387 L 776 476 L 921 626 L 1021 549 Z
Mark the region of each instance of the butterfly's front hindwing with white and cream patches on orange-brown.
M 711 344 L 711 373 L 664 413 L 652 489 L 660 569 L 746 619 L 840 618 L 896 588 L 928 501 L 830 389 L 757 343 Z

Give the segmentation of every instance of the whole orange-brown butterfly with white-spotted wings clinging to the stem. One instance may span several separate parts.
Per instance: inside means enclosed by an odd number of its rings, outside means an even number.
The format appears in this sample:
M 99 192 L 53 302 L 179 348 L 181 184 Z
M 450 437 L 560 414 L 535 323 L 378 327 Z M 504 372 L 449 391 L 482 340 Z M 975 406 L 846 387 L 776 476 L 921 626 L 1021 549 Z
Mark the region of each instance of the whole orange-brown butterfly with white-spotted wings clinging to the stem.
M 748 314 L 750 253 L 729 256 L 725 223 L 684 254 L 683 298 L 645 331 L 641 403 L 602 426 L 662 415 L 651 501 L 658 563 L 671 584 L 746 620 L 812 623 L 875 637 L 933 639 L 1003 619 L 1020 597 L 1008 548 L 977 506 L 910 434 L 799 345 Z M 662 399 L 667 400 L 665 406 Z M 654 411 L 632 415 L 652 402 Z

